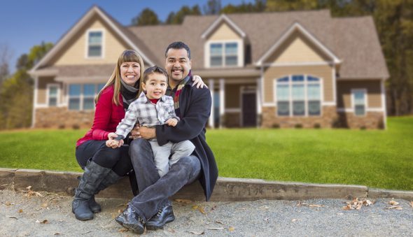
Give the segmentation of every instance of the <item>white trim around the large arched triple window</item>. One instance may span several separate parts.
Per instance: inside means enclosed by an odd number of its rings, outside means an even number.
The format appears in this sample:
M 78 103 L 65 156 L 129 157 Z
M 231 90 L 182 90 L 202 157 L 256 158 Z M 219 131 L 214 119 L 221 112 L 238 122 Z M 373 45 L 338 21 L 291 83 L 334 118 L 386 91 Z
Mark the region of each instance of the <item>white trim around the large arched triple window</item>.
M 303 82 L 293 82 L 293 76 L 304 76 L 304 81 Z M 309 82 L 307 80 L 307 77 L 314 77 L 314 78 L 318 78 L 318 82 Z M 288 82 L 278 82 L 278 79 L 281 78 L 288 78 Z M 288 85 L 288 90 L 289 90 L 289 94 L 288 94 L 288 106 L 289 106 L 289 113 L 288 115 L 279 115 L 278 113 L 278 99 L 277 99 L 277 85 L 279 85 L 279 83 L 281 85 Z M 304 115 L 293 115 L 293 85 L 297 85 L 300 83 L 304 83 Z M 308 99 L 308 85 L 311 84 L 318 84 L 320 85 L 320 114 L 319 115 L 309 115 L 309 108 L 308 108 L 308 103 L 309 103 L 309 99 Z M 311 74 L 305 74 L 305 73 L 292 73 L 292 74 L 288 74 L 288 75 L 283 75 L 283 76 L 279 76 L 278 78 L 274 78 L 273 79 L 273 89 L 274 89 L 274 106 L 276 107 L 275 110 L 275 115 L 276 117 L 322 117 L 323 116 L 323 101 L 324 101 L 324 89 L 323 89 L 323 78 L 318 77 L 318 76 L 314 76 Z M 285 101 L 285 100 L 282 100 Z

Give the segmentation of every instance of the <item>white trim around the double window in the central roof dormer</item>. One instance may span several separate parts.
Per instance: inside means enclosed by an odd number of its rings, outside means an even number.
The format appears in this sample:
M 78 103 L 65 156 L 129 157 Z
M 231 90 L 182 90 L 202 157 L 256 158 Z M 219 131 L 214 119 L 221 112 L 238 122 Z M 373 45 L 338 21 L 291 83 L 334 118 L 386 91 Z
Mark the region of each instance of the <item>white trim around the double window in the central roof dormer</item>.
M 223 64 L 221 66 L 211 66 L 211 44 L 221 43 L 223 45 Z M 237 43 L 237 65 L 225 66 L 225 43 Z M 231 40 L 211 40 L 207 41 L 204 45 L 204 66 L 208 69 L 230 69 L 244 66 L 244 40 L 243 39 L 231 39 Z

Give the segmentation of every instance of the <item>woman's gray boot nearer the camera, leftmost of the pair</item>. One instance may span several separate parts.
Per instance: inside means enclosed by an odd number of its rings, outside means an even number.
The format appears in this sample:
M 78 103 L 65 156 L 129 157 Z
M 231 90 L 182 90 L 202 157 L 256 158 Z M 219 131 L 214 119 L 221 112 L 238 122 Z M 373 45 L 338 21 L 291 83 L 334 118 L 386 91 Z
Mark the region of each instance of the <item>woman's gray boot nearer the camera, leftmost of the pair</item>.
M 103 178 L 108 175 L 111 168 L 99 166 L 99 164 L 90 161 L 85 166 L 85 173 L 80 178 L 79 186 L 76 189 L 71 210 L 75 213 L 78 220 L 93 219 L 93 212 L 90 210 L 89 202 L 92 196 L 97 192 L 97 188 Z

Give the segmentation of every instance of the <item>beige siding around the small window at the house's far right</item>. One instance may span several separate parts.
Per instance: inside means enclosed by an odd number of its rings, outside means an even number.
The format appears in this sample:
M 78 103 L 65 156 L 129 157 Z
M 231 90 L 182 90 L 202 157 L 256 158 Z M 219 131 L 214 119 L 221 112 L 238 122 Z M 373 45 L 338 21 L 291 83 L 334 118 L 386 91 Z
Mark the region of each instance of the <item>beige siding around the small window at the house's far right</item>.
M 381 108 L 381 80 L 337 82 L 337 108 L 351 108 L 351 89 L 367 89 L 368 108 Z

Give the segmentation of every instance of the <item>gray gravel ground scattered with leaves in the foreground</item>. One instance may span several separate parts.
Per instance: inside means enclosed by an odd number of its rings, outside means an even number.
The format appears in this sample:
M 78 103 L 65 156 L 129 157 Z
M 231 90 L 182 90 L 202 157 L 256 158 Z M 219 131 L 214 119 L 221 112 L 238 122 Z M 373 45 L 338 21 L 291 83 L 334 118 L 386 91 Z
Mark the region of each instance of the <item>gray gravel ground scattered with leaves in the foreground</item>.
M 41 196 L 39 196 L 41 195 Z M 97 199 L 103 212 L 81 222 L 70 196 L 0 190 L 0 236 L 134 236 L 114 220 L 126 199 Z M 144 236 L 412 236 L 409 201 L 386 209 L 377 199 L 360 210 L 343 210 L 345 199 L 243 202 L 174 201 L 176 220 Z

